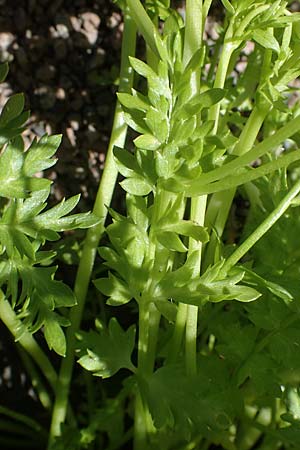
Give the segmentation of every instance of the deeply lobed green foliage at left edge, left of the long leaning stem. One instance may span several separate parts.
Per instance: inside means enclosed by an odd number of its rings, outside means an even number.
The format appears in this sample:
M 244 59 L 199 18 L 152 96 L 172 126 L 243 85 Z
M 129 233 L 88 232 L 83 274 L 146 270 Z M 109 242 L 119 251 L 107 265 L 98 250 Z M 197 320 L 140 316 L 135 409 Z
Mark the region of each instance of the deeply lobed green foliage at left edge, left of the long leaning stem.
M 7 67 L 1 70 L 4 78 Z M 36 175 L 55 164 L 61 136 L 43 136 L 25 151 L 20 133 L 28 114 L 23 108 L 24 96 L 16 94 L 0 115 L 0 286 L 25 325 L 15 330 L 16 338 L 24 330 L 35 333 L 43 328 L 49 348 L 64 356 L 62 327 L 70 322 L 57 308 L 75 305 L 76 298 L 66 284 L 54 279 L 57 267 L 49 264 L 55 253 L 42 251 L 42 246 L 60 239 L 58 232 L 88 228 L 98 220 L 90 213 L 68 215 L 79 196 L 44 211 L 51 182 Z

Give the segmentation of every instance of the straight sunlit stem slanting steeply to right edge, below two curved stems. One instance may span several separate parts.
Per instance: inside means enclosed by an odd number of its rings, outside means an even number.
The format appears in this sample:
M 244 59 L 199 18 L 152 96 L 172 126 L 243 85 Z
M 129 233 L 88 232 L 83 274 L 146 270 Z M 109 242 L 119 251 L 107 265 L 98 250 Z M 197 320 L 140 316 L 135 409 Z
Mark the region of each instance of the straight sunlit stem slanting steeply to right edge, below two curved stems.
M 227 272 L 250 250 L 256 242 L 277 222 L 291 205 L 293 199 L 300 192 L 300 181 L 295 183 L 289 193 L 281 200 L 274 211 L 256 228 L 256 230 L 229 256 L 226 260 L 220 276 L 226 276 Z

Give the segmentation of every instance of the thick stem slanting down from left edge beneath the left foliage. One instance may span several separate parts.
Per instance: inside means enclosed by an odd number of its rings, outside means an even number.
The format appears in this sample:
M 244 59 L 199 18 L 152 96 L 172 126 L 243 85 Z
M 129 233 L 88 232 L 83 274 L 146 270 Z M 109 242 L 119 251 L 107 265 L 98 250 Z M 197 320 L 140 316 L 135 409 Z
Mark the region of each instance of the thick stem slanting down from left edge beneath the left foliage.
M 18 340 L 19 344 L 26 350 L 26 352 L 35 361 L 37 366 L 42 370 L 43 375 L 48 380 L 50 386 L 55 391 L 57 374 L 52 367 L 49 359 L 37 344 L 35 339 L 26 330 L 22 322 L 17 318 L 10 303 L 5 299 L 5 296 L 0 290 L 0 319 L 9 329 L 11 334 Z

